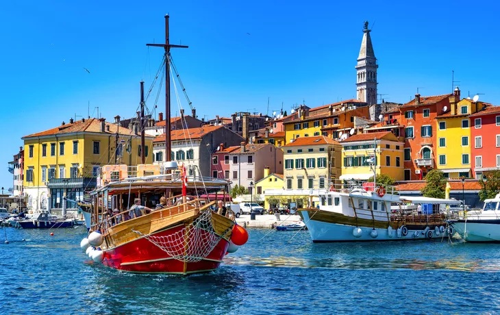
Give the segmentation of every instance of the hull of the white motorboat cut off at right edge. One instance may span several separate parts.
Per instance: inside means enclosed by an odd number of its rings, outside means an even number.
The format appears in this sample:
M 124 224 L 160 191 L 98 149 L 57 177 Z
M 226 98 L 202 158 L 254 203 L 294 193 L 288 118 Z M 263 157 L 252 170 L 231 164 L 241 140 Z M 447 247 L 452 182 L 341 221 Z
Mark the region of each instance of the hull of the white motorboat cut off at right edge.
M 500 220 L 458 220 L 451 225 L 466 242 L 500 242 Z

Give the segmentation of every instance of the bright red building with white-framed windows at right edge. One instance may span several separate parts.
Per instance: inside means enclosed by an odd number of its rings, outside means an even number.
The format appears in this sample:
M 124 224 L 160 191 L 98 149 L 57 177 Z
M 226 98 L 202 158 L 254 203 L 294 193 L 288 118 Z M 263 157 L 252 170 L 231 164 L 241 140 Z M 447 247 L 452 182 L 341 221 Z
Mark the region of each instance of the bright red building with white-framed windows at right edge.
M 469 116 L 471 139 L 481 137 L 479 148 L 471 146 L 473 176 L 479 178 L 484 171 L 500 169 L 500 106 L 486 107 Z

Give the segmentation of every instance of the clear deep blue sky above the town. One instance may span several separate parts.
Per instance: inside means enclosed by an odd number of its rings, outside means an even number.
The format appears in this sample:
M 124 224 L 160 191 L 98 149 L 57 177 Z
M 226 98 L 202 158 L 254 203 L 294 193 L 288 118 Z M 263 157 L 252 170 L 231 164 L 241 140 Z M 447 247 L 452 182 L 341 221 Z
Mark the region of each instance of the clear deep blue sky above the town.
M 91 116 L 99 107 L 108 121 L 134 114 L 139 81 L 151 84 L 162 57 L 162 49 L 145 44 L 164 41 L 167 12 L 171 42 L 190 46 L 173 55 L 200 117 L 265 113 L 268 97 L 270 112 L 282 103 L 289 112 L 303 100 L 314 107 L 353 98 L 365 20 L 373 27 L 378 92 L 388 94 L 386 101 L 408 101 L 417 87 L 422 95 L 450 92 L 455 70 L 462 96 L 484 93 L 482 100 L 500 105 L 499 4 L 375 2 L 3 3 L 0 185 L 12 186 L 7 163 L 21 136 L 86 116 L 89 101 Z

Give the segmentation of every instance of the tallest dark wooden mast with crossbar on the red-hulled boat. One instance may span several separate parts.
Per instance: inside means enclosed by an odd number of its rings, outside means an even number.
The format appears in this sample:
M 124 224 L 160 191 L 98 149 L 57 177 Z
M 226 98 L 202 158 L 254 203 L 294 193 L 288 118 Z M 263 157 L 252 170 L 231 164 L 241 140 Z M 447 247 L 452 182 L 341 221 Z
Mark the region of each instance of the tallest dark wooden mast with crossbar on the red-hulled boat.
M 164 47 L 165 49 L 165 162 L 171 160 L 171 112 L 170 112 L 170 49 L 171 48 L 188 48 L 182 45 L 170 45 L 168 38 L 168 14 L 165 15 L 165 43 L 164 44 L 146 44 L 153 47 Z

